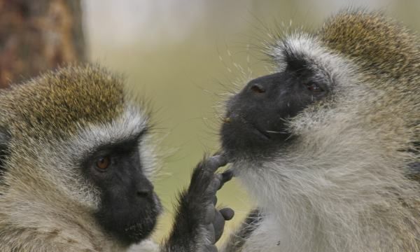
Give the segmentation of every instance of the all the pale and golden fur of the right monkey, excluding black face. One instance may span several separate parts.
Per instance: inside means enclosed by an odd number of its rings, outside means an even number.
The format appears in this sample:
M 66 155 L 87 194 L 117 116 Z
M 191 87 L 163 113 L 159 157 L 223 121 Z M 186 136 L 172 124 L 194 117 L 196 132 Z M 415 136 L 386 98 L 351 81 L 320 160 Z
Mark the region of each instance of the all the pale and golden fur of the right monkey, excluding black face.
M 345 10 L 277 41 L 269 53 L 279 69 L 286 51 L 327 76 L 332 92 L 290 120 L 293 146 L 233 165 L 264 221 L 226 247 L 420 251 L 419 171 L 410 169 L 420 162 L 418 38 L 380 13 Z

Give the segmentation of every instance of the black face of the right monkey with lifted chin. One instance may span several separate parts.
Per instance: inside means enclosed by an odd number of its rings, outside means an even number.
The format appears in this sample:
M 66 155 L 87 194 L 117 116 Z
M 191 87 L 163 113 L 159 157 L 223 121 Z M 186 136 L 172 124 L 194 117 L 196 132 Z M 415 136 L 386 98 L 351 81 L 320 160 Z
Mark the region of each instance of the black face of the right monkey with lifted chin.
M 328 85 L 304 62 L 251 80 L 228 101 L 221 128 L 222 147 L 230 158 L 260 158 L 293 141 L 287 121 L 328 93 Z

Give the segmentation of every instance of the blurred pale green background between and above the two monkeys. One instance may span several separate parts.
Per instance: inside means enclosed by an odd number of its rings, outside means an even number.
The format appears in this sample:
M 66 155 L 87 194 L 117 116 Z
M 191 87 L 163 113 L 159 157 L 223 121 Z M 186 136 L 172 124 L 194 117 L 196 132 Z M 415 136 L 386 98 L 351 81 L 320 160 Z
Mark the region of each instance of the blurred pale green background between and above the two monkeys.
M 204 153 L 218 149 L 226 92 L 269 71 L 261 53 L 267 31 L 316 29 L 343 6 L 381 8 L 420 29 L 420 1 L 85 0 L 90 59 L 125 73 L 133 92 L 151 99 L 155 132 L 164 137 L 164 169 L 155 181 L 165 206 L 155 238 L 169 231 L 176 192 Z M 292 20 L 292 21 L 290 21 Z M 282 23 L 285 27 L 283 27 Z M 251 207 L 233 181 L 219 193 L 233 207 L 231 232 Z

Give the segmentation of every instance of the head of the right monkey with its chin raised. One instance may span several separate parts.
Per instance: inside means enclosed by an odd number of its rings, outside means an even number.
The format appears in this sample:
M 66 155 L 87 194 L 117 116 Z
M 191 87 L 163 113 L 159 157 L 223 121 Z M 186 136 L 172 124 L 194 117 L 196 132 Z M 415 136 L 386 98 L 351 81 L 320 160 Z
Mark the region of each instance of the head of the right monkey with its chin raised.
M 418 160 L 419 52 L 407 29 L 359 10 L 333 16 L 318 31 L 279 38 L 268 48 L 274 73 L 227 102 L 223 150 L 246 161 L 239 173 L 251 161 L 259 164 L 254 172 L 275 164 L 283 178 L 299 173 L 309 181 L 351 162 L 402 174 Z

